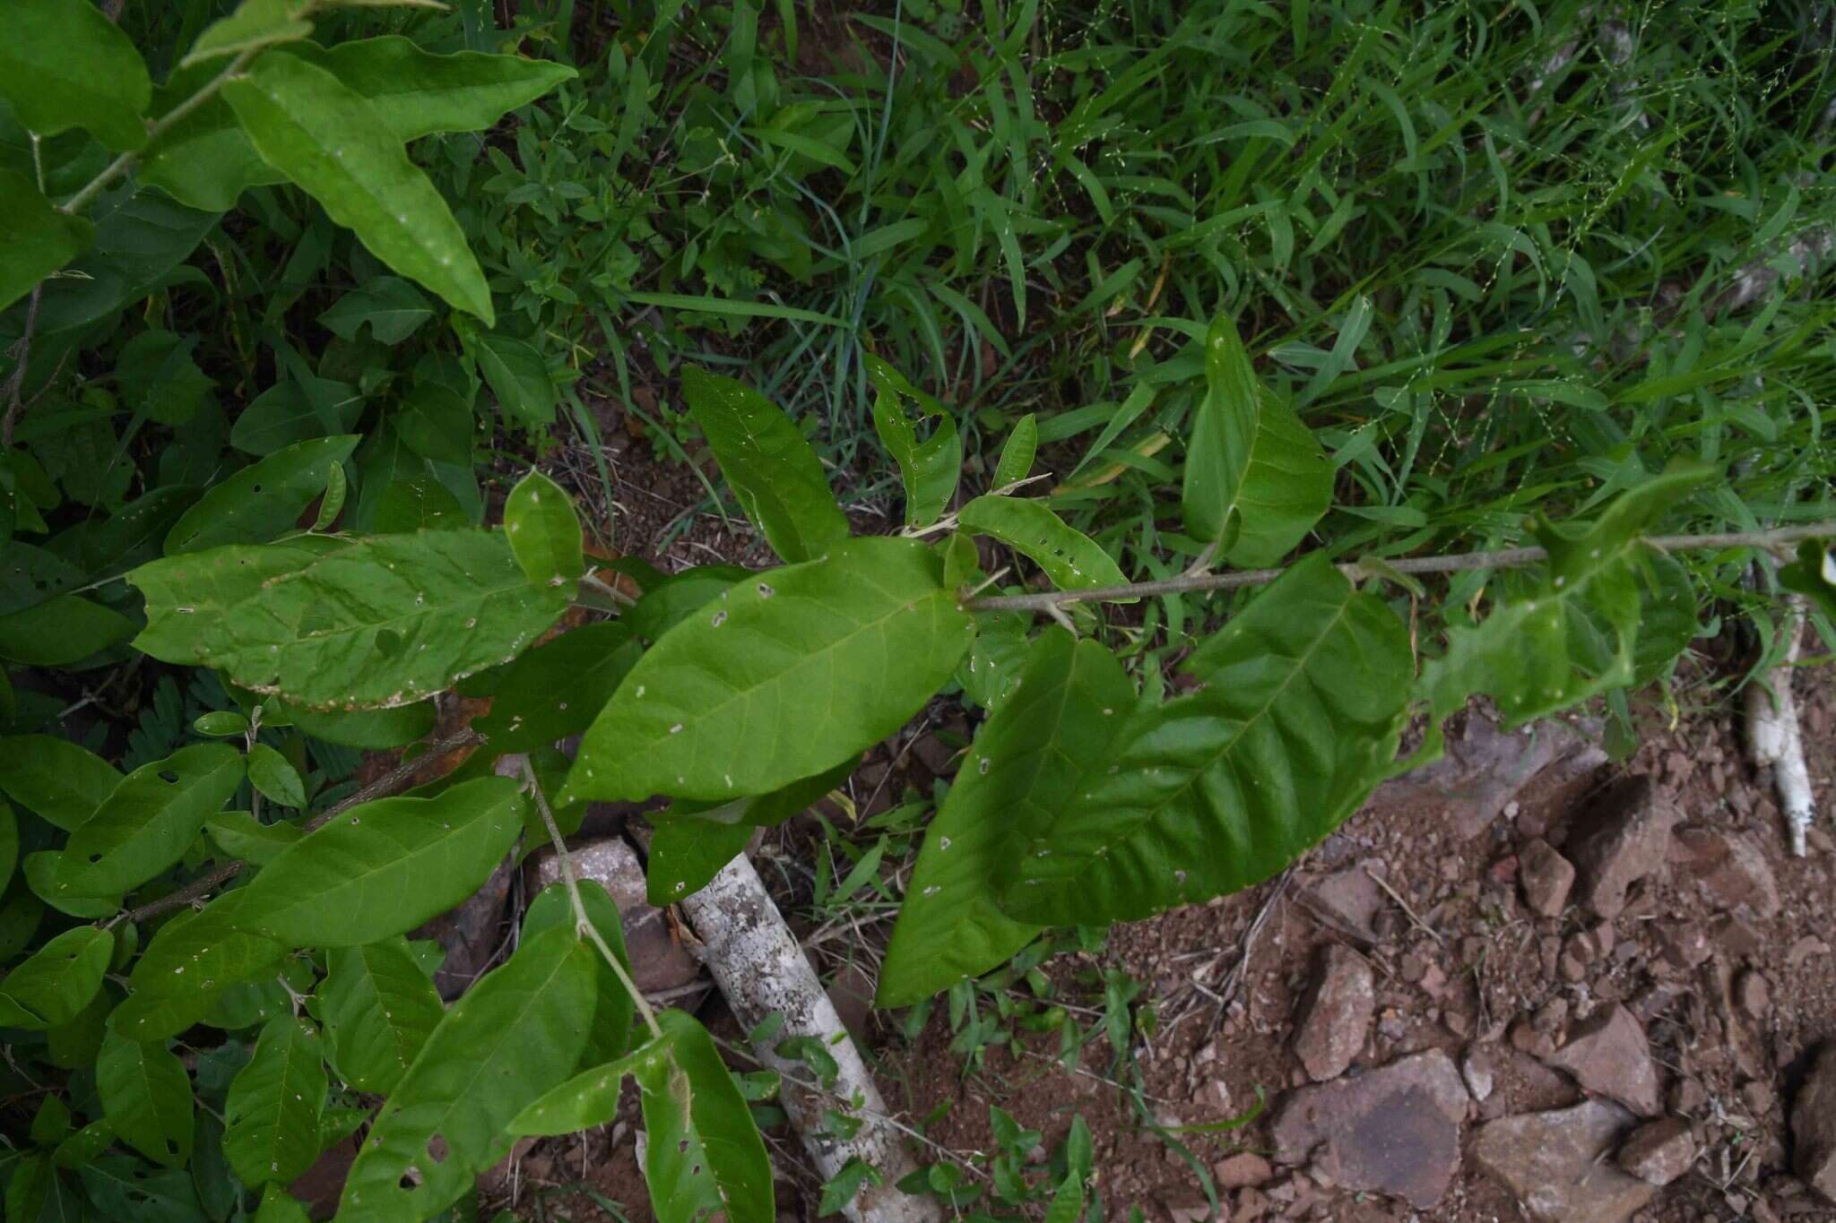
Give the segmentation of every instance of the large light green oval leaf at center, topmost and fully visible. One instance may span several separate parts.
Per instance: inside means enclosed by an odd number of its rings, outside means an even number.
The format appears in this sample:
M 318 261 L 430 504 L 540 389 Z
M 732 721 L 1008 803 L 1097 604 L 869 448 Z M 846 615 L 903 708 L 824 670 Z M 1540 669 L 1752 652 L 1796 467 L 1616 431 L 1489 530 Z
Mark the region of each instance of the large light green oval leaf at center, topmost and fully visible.
M 879 743 L 969 647 L 942 576 L 916 539 L 848 539 L 734 585 L 637 660 L 560 801 L 764 794 Z

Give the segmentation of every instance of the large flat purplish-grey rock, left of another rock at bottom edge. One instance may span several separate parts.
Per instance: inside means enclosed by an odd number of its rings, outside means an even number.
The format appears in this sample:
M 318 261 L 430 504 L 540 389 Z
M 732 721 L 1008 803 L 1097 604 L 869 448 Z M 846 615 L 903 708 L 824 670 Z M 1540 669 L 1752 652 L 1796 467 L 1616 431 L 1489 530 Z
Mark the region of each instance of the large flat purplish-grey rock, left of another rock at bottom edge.
M 1271 1126 L 1274 1159 L 1311 1161 L 1338 1188 L 1432 1206 L 1460 1170 L 1467 1104 L 1452 1058 L 1430 1049 L 1289 1093 Z

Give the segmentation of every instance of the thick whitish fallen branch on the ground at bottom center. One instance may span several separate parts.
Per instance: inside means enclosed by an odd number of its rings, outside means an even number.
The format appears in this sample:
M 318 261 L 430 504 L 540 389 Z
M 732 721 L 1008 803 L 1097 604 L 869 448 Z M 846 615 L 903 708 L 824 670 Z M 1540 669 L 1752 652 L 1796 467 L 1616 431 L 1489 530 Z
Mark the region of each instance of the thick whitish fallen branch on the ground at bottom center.
M 740 854 L 701 891 L 681 902 L 688 924 L 705 944 L 705 963 L 740 1025 L 753 1029 L 771 1014 L 784 1016 L 784 1027 L 753 1047 L 755 1056 L 784 1076 L 782 1104 L 802 1135 L 804 1148 L 826 1181 L 843 1164 L 859 1157 L 872 1164 L 881 1184 L 863 1186 L 845 1214 L 850 1223 L 942 1223 L 933 1197 L 900 1192 L 896 1183 L 916 1166 L 889 1122 L 885 1100 L 874 1085 L 861 1051 L 841 1025 L 835 1005 L 817 979 L 802 946 L 771 902 L 758 871 Z M 810 1036 L 835 1058 L 835 1082 L 826 1093 L 812 1091 L 797 1080 L 808 1078 L 802 1062 L 780 1058 L 775 1045 L 793 1036 Z M 846 1104 L 852 1102 L 852 1104 Z M 828 1131 L 828 1111 L 859 1120 L 852 1139 Z

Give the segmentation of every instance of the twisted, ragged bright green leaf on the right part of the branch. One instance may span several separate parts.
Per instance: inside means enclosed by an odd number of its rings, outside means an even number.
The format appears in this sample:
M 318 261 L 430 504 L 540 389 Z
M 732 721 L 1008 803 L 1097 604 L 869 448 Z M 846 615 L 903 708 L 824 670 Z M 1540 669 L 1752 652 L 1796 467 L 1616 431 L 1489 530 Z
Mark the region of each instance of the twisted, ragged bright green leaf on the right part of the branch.
M 1640 633 L 1641 541 L 1713 469 L 1674 462 L 1621 493 L 1594 523 L 1540 519 L 1550 561 L 1502 607 L 1447 634 L 1447 653 L 1423 667 L 1432 715 L 1447 717 L 1472 693 L 1498 702 L 1518 726 L 1632 682 Z

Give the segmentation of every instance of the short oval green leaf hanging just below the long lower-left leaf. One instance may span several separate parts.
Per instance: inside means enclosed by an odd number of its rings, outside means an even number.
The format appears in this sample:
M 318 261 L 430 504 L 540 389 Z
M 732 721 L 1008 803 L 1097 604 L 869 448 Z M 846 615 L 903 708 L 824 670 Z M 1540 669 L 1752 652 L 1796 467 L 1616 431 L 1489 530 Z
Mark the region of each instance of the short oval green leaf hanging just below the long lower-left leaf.
M 319 1019 L 338 1076 L 387 1095 L 439 1027 L 446 1007 L 400 935 L 332 948 L 319 985 Z

